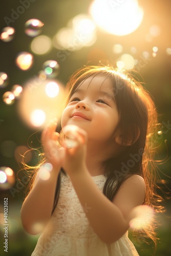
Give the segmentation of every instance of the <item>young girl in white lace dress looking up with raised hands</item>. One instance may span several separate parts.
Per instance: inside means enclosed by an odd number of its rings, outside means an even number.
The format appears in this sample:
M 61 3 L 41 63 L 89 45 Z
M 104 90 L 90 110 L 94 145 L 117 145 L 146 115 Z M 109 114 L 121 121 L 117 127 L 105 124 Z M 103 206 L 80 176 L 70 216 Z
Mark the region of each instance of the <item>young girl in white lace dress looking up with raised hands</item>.
M 43 229 L 32 256 L 138 255 L 127 237 L 134 209 L 159 209 L 154 102 L 139 82 L 108 66 L 83 67 L 68 86 L 61 127 L 74 144 L 60 140 L 56 120 L 46 127 L 45 158 L 21 210 L 28 233 Z M 153 224 L 143 231 L 155 241 Z

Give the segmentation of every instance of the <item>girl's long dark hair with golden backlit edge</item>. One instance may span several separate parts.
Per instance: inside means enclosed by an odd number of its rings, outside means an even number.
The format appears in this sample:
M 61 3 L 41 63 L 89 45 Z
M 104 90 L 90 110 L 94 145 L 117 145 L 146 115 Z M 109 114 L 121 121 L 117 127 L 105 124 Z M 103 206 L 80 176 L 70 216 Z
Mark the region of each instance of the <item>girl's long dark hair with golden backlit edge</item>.
M 158 131 L 154 101 L 142 84 L 133 76 L 109 66 L 85 66 L 70 77 L 67 84 L 68 99 L 66 104 L 85 79 L 97 75 L 103 76 L 104 79 L 109 77 L 113 84 L 116 106 L 120 117 L 117 128 L 121 131 L 121 146 L 123 147 L 122 153 L 117 158 L 113 157 L 101 163 L 105 168 L 106 175 L 103 194 L 112 201 L 121 184 L 131 175 L 137 174 L 144 178 L 146 184 L 146 195 L 143 203 L 161 211 L 161 197 L 156 193 L 154 165 L 154 141 Z M 133 141 L 130 146 L 126 145 L 128 137 L 131 137 Z M 42 162 L 45 162 L 45 158 Z M 35 175 L 36 172 L 37 169 L 35 168 Z M 61 169 L 57 179 L 52 214 L 59 198 L 62 173 L 65 175 L 63 169 Z M 30 183 L 29 190 L 32 187 L 35 175 Z M 147 229 L 144 228 L 143 232 L 156 243 L 154 225 Z

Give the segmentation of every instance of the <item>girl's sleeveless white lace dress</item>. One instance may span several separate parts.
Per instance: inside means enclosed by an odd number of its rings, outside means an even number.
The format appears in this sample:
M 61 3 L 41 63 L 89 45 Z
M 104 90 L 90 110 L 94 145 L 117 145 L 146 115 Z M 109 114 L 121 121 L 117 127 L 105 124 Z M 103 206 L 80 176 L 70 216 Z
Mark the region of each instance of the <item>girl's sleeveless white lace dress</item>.
M 92 177 L 103 190 L 105 177 Z M 69 176 L 61 175 L 61 190 L 57 207 L 48 226 L 40 235 L 31 256 L 137 256 L 133 243 L 125 233 L 112 244 L 102 242 L 82 208 Z

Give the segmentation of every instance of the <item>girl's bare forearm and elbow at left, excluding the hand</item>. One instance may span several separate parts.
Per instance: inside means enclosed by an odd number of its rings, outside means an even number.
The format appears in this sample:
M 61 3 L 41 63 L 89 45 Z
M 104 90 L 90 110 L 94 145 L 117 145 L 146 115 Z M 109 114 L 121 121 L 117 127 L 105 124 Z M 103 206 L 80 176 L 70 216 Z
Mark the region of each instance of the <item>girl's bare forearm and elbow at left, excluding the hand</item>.
M 37 223 L 46 224 L 51 217 L 57 175 L 56 170 L 52 170 L 48 180 L 42 180 L 37 175 L 35 184 L 23 203 L 22 223 L 25 230 L 30 234 L 38 233 L 38 230 L 34 230 L 34 225 Z

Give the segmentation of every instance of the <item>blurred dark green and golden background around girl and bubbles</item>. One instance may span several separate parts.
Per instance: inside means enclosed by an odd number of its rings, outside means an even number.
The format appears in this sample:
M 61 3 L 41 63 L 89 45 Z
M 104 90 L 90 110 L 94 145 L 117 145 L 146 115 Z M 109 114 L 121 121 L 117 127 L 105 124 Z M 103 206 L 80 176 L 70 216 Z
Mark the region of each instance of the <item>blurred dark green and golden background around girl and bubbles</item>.
M 46 60 L 56 60 L 60 70 L 57 80 L 66 84 L 68 77 L 77 69 L 87 64 L 97 64 L 109 61 L 113 66 L 120 60 L 123 54 L 130 54 L 134 58 L 134 68 L 143 77 L 146 89 L 154 97 L 154 101 L 159 113 L 159 121 L 163 125 L 163 134 L 158 137 L 158 148 L 156 159 L 166 159 L 163 164 L 157 165 L 161 177 L 159 190 L 161 196 L 165 197 L 164 206 L 166 211 L 157 216 L 160 226 L 157 229 L 160 241 L 156 252 L 152 245 L 134 241 L 140 255 L 167 256 L 171 255 L 170 249 L 170 140 L 171 140 L 171 2 L 169 0 L 138 1 L 142 7 L 144 15 L 140 26 L 130 34 L 117 36 L 109 34 L 98 27 L 94 38 L 87 46 L 78 44 L 78 41 L 70 41 L 69 49 L 64 49 L 54 42 L 54 36 L 61 28 L 71 28 L 72 19 L 79 14 L 89 14 L 89 7 L 93 1 L 78 0 L 35 0 L 18 1 L 8 0 L 1 6 L 0 31 L 10 26 L 15 28 L 13 40 L 5 42 L 0 40 L 0 72 L 5 72 L 9 76 L 9 84 L 5 88 L 0 88 L 0 166 L 7 166 L 15 172 L 15 183 L 13 188 L 0 190 L 0 254 L 4 252 L 4 198 L 8 197 L 8 219 L 9 219 L 9 239 L 8 255 L 31 255 L 38 236 L 27 234 L 20 221 L 20 207 L 24 200 L 24 185 L 20 184 L 16 176 L 21 169 L 19 153 L 40 146 L 40 131 L 35 127 L 28 126 L 18 113 L 18 102 L 16 99 L 11 105 L 6 104 L 2 96 L 5 92 L 12 90 L 14 84 L 24 86 L 30 78 L 35 78 L 42 69 L 42 64 Z M 24 4 L 22 4 L 24 3 Z M 109 1 L 112 7 L 119 8 L 124 1 Z M 23 8 L 20 8 L 23 6 Z M 128 10 L 129 11 L 129 10 Z M 15 13 L 17 12 L 17 14 Z M 13 14 L 15 13 L 15 14 Z M 18 14 L 19 13 L 19 14 Z M 13 16 L 12 16 L 13 15 Z M 44 23 L 41 35 L 50 38 L 52 46 L 45 54 L 36 54 L 31 49 L 31 37 L 25 33 L 25 23 L 27 20 L 35 18 Z M 92 17 L 90 17 L 92 19 Z M 86 31 L 86 27 L 84 31 Z M 82 32 L 82 33 L 83 33 Z M 77 49 L 79 45 L 79 49 Z M 119 45 L 119 46 L 118 46 Z M 72 47 L 71 47 L 72 46 Z M 157 47 L 157 50 L 154 47 Z M 120 49 L 120 50 L 117 50 Z M 20 52 L 30 52 L 34 61 L 30 69 L 23 71 L 15 64 L 15 59 Z M 22 96 L 21 96 L 22 97 Z M 36 133 L 35 133 L 36 132 Z M 22 147 L 21 147 L 22 146 Z M 21 151 L 19 151 L 21 150 Z M 19 152 L 19 153 L 18 153 Z M 38 161 L 37 154 L 26 155 L 28 164 L 34 165 Z M 19 173 L 20 179 L 26 185 L 25 174 Z

